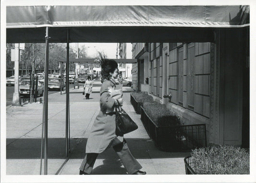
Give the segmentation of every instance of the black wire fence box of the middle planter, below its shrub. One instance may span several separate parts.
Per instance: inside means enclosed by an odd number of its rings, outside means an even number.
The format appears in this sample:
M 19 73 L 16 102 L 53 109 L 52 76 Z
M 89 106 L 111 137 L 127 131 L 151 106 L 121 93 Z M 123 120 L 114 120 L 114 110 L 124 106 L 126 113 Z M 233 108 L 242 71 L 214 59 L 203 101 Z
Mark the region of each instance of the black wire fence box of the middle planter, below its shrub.
M 206 125 L 158 126 L 141 108 L 142 123 L 162 151 L 191 151 L 206 146 Z

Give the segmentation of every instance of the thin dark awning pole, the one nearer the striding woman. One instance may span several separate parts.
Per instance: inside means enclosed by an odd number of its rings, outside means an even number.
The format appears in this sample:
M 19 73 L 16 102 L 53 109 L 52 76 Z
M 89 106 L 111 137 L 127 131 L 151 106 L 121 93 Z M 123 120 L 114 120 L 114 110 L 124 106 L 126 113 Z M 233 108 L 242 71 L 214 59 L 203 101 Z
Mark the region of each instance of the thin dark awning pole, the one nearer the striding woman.
M 67 30 L 67 62 L 66 62 L 66 157 L 68 157 L 69 133 L 69 30 Z

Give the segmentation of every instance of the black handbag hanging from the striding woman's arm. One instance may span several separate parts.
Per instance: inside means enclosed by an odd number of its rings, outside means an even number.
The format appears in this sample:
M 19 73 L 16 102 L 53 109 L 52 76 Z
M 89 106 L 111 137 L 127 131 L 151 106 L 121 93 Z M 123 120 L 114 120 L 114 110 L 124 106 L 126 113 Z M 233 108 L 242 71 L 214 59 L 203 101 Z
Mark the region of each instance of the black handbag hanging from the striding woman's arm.
M 118 102 L 119 103 L 119 102 Z M 133 119 L 121 108 L 115 107 L 116 110 L 116 135 L 120 136 L 135 129 L 138 129 L 138 126 L 133 121 Z

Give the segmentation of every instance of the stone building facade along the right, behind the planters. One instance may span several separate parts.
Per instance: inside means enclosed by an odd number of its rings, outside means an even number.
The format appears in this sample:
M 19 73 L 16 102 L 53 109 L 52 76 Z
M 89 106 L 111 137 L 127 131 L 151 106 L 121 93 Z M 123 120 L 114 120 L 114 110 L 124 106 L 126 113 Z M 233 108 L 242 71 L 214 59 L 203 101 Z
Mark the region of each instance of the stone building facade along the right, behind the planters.
M 184 125 L 206 124 L 208 145 L 248 148 L 247 35 L 248 29 L 219 30 L 215 43 L 133 43 L 133 88 L 148 92 Z

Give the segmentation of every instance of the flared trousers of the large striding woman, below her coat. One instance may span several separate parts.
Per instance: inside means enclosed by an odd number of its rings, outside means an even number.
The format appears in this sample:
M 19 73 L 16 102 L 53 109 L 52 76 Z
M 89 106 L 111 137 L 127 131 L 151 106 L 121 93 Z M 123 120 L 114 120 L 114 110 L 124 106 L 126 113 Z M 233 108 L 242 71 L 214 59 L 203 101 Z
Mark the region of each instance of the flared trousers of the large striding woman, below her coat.
M 116 144 L 117 141 L 119 140 L 115 138 L 114 140 L 112 140 L 111 144 Z M 109 147 L 111 147 L 111 144 Z M 123 142 L 118 143 L 117 145 L 114 145 L 112 147 L 116 151 L 117 155 L 122 161 L 123 166 L 126 168 L 126 171 L 129 174 L 133 174 L 134 172 L 137 172 L 142 168 L 140 163 L 134 158 L 134 156 L 130 152 L 125 139 L 123 140 Z M 85 158 L 80 166 L 80 170 L 85 173 L 91 174 L 97 156 L 98 153 L 86 153 Z

